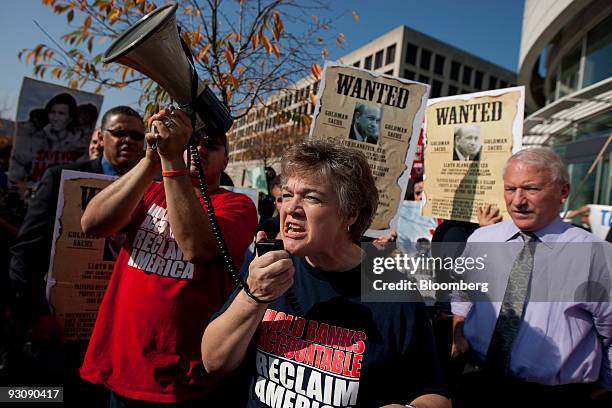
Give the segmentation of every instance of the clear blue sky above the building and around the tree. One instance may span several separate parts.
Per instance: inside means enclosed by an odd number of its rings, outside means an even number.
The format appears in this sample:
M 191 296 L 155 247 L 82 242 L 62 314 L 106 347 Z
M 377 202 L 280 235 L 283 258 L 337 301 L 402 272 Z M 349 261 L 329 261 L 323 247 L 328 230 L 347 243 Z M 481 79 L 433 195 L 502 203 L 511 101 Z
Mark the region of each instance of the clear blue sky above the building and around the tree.
M 343 33 L 347 40 L 343 50 L 330 47 L 331 59 L 403 24 L 504 68 L 517 70 L 523 0 L 329 0 L 329 4 L 329 14 L 341 16 L 333 31 Z M 351 10 L 359 14 L 358 23 L 351 16 Z M 40 0 L 15 1 L 3 7 L 0 13 L 0 26 L 5 33 L 0 49 L 2 117 L 15 118 L 22 78 L 33 77 L 32 67 L 19 62 L 17 53 L 40 42 L 49 42 L 34 20 L 55 39 L 69 29 L 65 16 L 53 14 Z M 65 85 L 50 78 L 45 80 Z M 104 97 L 103 111 L 119 104 L 137 107 L 135 91 L 105 91 Z

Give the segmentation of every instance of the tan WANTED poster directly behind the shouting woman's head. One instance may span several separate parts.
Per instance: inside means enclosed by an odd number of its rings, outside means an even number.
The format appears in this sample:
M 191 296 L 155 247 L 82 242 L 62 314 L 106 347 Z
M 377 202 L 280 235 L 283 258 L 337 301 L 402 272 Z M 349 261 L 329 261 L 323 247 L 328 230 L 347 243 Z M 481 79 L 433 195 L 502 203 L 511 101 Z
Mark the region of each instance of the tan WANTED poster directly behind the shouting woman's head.
M 334 139 L 366 155 L 380 201 L 368 236 L 397 227 L 428 94 L 429 86 L 418 82 L 325 65 L 310 137 Z

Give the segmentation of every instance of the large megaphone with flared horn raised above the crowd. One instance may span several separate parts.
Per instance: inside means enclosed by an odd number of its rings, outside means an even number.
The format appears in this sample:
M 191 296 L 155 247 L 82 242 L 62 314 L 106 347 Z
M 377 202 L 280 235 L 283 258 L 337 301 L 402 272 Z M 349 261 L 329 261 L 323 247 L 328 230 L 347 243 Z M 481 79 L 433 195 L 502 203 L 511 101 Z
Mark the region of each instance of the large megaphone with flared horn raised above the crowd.
M 176 4 L 159 7 L 117 38 L 102 62 L 118 62 L 157 82 L 209 137 L 225 134 L 234 122 L 229 108 L 200 83 L 191 52 L 181 42 Z

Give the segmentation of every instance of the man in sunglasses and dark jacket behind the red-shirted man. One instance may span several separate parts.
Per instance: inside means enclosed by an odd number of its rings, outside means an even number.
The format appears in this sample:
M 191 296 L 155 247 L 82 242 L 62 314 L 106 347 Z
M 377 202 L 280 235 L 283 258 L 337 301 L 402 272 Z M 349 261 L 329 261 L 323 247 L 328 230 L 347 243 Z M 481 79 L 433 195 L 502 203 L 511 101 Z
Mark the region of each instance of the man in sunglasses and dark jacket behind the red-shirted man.
M 49 269 L 62 170 L 114 176 L 127 173 L 142 157 L 142 118 L 127 106 L 111 108 L 102 118 L 102 137 L 102 156 L 51 167 L 45 172 L 11 247 L 9 276 L 16 296 L 13 305 L 14 348 L 29 341 L 35 357 L 33 367 L 19 366 L 15 362 L 13 368 L 21 371 L 21 384 L 66 384 L 66 401 L 82 401 L 89 391 L 85 389 L 79 393 L 81 384 L 77 373 L 87 343 L 74 342 L 65 347 L 60 344 L 59 325 L 51 314 L 45 295 L 45 275 Z M 31 335 L 26 338 L 28 331 Z

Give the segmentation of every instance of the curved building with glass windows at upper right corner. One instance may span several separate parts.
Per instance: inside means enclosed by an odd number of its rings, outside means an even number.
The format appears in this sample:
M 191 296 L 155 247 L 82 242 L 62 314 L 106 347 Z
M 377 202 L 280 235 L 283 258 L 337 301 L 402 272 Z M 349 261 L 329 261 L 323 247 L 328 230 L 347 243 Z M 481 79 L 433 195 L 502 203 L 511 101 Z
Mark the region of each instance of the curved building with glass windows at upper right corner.
M 612 2 L 526 0 L 519 83 L 530 113 L 525 144 L 563 157 L 566 205 L 612 204 Z

